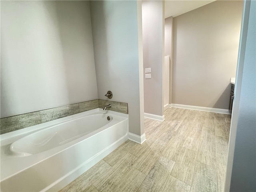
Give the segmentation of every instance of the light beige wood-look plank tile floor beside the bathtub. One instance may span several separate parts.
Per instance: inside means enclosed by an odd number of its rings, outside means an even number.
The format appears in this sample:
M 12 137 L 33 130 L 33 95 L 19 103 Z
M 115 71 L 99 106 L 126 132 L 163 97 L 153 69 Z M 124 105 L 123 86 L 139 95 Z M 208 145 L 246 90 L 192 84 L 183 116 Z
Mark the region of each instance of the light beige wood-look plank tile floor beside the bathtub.
M 61 192 L 222 192 L 230 115 L 168 108 Z

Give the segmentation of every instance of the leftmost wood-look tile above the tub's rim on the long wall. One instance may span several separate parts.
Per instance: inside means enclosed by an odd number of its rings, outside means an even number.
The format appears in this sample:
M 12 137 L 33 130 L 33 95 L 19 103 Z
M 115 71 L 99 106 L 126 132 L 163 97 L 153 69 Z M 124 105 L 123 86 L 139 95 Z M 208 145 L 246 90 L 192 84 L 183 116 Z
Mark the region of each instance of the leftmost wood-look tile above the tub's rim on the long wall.
M 40 112 L 26 113 L 6 118 L 1 118 L 0 120 L 0 134 L 5 134 L 8 132 L 16 131 L 33 125 L 42 123 Z

